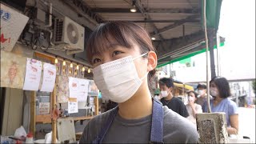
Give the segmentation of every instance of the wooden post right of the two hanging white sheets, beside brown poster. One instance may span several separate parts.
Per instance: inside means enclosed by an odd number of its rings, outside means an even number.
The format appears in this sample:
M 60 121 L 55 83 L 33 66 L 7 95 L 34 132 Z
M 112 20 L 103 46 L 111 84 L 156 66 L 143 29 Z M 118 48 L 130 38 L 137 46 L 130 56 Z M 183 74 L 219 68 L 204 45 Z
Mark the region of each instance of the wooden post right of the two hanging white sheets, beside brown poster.
M 56 78 L 58 78 L 56 76 Z M 52 111 L 51 113 L 54 113 L 53 110 L 55 110 L 55 105 L 56 105 L 56 84 L 54 86 L 54 90 L 51 93 L 51 103 L 52 103 Z M 52 143 L 56 143 L 56 138 L 57 138 L 57 120 L 54 120 L 53 118 L 51 119 L 51 129 L 52 129 Z

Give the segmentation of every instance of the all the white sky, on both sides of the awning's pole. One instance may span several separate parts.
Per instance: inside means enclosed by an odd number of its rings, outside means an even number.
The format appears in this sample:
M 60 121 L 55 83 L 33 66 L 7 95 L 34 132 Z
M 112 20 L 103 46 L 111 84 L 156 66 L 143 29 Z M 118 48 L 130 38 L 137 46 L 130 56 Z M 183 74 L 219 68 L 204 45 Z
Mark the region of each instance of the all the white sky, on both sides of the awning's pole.
M 218 34 L 226 38 L 218 49 L 219 75 L 228 80 L 255 78 L 255 0 L 222 0 Z M 206 53 L 191 60 L 195 67 L 176 69 L 177 78 L 206 82 Z

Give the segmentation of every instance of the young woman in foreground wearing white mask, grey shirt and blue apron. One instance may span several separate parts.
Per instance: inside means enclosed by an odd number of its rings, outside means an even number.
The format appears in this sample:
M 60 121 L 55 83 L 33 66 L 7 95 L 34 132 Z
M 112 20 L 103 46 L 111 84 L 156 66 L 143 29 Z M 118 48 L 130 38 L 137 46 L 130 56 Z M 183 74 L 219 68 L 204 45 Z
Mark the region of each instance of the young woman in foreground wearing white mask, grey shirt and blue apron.
M 146 30 L 132 22 L 101 24 L 86 52 L 102 97 L 118 106 L 91 119 L 79 143 L 197 142 L 192 123 L 151 97 L 157 55 Z

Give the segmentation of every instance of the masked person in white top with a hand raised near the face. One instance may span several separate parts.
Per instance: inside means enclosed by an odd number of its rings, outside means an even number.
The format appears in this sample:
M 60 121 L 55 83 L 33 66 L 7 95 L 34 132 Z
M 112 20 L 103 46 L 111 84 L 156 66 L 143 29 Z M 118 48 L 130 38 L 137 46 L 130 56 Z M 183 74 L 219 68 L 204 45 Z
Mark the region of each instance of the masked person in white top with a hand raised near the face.
M 202 106 L 195 103 L 196 99 L 198 98 L 198 94 L 196 92 L 189 91 L 187 94 L 188 103 L 186 104 L 186 110 L 190 114 L 190 116 L 187 118 L 196 125 L 197 122 L 195 114 L 202 113 Z

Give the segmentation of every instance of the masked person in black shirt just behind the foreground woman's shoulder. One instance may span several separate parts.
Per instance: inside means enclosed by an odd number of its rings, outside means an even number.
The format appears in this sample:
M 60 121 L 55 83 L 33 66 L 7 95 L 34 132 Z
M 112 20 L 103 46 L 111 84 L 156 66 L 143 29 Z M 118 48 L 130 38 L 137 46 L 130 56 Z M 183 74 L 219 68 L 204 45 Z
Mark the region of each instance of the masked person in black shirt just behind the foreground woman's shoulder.
M 169 109 L 180 114 L 184 118 L 188 117 L 189 114 L 182 100 L 175 98 L 172 94 L 172 90 L 174 89 L 174 80 L 172 78 L 161 78 L 158 83 L 162 95 L 160 100 L 162 105 L 169 107 Z

